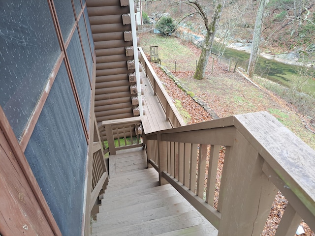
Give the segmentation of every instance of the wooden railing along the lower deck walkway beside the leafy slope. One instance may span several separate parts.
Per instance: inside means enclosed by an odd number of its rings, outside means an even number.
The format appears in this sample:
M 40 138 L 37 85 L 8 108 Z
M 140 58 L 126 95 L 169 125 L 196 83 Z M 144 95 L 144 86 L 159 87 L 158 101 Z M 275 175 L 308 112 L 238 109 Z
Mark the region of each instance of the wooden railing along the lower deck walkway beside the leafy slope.
M 164 89 L 162 83 L 158 79 L 157 74 L 154 72 L 149 60 L 146 58 L 142 48 L 140 50 L 140 62 L 146 73 L 146 76 L 149 78 L 151 86 L 154 90 L 155 95 L 158 97 L 158 100 L 166 114 L 166 119 L 172 125 L 172 127 L 181 127 L 185 124 L 185 121 L 179 114 L 178 110 L 176 109 L 172 99 L 167 94 L 166 90 Z

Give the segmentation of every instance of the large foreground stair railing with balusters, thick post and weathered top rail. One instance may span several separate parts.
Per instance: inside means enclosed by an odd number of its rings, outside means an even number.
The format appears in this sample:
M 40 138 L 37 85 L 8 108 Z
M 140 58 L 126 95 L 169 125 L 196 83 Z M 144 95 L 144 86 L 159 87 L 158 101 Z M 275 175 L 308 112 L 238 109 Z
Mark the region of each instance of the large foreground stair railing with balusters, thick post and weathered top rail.
M 276 236 L 293 236 L 302 219 L 315 230 L 315 150 L 269 113 L 157 131 L 146 140 L 154 141 L 147 152 L 161 184 L 171 183 L 218 236 L 260 235 L 278 189 L 288 205 Z

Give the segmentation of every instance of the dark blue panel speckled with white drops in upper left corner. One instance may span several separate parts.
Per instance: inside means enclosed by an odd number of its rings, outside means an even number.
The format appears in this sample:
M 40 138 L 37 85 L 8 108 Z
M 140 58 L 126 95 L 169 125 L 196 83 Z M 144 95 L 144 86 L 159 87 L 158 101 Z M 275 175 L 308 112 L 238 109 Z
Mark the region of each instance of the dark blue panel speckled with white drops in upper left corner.
M 18 140 L 60 53 L 47 1 L 0 1 L 0 106 Z

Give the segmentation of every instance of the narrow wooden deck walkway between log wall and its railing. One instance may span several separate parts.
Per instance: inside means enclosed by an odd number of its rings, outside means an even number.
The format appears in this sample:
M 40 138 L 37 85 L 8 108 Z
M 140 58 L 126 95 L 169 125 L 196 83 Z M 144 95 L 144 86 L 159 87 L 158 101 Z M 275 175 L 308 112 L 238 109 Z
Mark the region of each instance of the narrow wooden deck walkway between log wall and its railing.
M 145 76 L 145 73 L 141 72 L 142 86 L 144 89 L 144 109 L 145 116 L 148 118 L 146 123 L 146 132 L 154 132 L 163 129 L 172 128 L 169 121 L 166 120 L 166 115 L 163 108 L 158 101 L 157 96 L 154 95 L 154 90 L 149 82 L 149 79 Z

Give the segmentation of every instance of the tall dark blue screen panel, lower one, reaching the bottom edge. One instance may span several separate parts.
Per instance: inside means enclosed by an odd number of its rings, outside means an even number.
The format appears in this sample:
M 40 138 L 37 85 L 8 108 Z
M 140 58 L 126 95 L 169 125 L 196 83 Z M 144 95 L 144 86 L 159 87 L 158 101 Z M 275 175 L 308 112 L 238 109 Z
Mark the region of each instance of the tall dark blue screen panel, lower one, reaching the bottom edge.
M 87 142 L 62 64 L 25 156 L 63 236 L 81 235 Z

